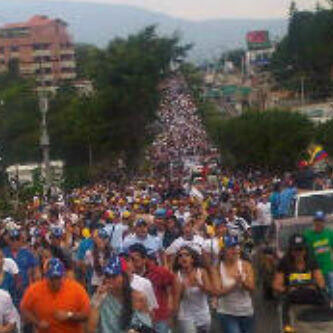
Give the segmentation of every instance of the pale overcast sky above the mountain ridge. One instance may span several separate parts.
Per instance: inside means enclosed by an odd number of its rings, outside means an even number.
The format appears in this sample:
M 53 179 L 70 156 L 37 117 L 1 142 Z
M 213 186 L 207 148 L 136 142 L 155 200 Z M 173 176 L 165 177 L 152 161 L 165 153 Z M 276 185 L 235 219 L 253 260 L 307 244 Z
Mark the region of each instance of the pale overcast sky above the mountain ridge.
M 7 0 L 2 0 L 7 1 Z M 66 0 L 59 0 L 66 1 Z M 176 17 L 204 20 L 220 17 L 286 17 L 291 0 L 67 0 L 128 4 Z M 314 8 L 317 0 L 296 0 L 299 9 Z M 325 3 L 325 0 L 320 0 Z

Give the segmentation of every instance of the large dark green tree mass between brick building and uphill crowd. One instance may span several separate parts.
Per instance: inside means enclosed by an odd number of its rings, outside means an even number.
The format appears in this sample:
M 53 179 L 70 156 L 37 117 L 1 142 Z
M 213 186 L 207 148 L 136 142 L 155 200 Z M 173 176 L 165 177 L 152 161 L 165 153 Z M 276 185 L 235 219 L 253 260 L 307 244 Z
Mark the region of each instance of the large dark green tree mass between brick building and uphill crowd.
M 79 73 L 93 81 L 91 96 L 63 89 L 50 110 L 52 153 L 70 165 L 93 166 L 106 157 L 125 156 L 135 169 L 152 140 L 159 82 L 172 60 L 190 46 L 177 35 L 161 37 L 149 26 L 128 38 L 112 40 L 106 49 L 77 46 Z

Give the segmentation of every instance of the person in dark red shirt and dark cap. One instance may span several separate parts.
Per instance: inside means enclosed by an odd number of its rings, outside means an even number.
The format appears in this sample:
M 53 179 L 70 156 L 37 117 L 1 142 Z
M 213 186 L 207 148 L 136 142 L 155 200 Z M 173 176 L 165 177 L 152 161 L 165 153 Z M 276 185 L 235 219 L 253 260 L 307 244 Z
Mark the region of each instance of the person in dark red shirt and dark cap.
M 169 332 L 169 320 L 175 313 L 178 304 L 176 297 L 178 285 L 175 275 L 166 267 L 158 266 L 154 254 L 148 253 L 142 244 L 131 245 L 129 256 L 133 263 L 134 273 L 148 279 L 153 286 L 158 304 L 153 312 L 156 332 Z

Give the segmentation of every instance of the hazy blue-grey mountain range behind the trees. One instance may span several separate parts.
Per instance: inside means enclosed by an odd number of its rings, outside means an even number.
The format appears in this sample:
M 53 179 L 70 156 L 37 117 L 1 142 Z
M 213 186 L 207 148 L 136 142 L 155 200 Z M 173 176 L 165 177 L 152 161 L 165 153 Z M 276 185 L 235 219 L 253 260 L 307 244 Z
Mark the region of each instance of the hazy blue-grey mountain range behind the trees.
M 236 47 L 245 47 L 245 34 L 250 30 L 269 30 L 273 39 L 279 39 L 287 29 L 284 19 L 221 18 L 197 22 L 123 5 L 0 0 L 0 25 L 27 20 L 35 14 L 64 19 L 75 42 L 100 47 L 106 46 L 116 36 L 124 37 L 147 25 L 157 24 L 159 32 L 171 34 L 178 31 L 185 43 L 194 43 L 190 57 L 197 61 L 215 58 L 223 51 Z

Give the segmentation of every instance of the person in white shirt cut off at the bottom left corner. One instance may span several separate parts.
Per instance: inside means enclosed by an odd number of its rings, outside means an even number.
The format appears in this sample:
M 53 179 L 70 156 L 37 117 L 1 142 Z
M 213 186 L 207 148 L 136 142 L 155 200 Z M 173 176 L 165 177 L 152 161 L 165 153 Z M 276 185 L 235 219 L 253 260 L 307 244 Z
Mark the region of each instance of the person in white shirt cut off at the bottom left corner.
M 0 289 L 0 332 L 20 332 L 20 316 L 9 293 Z

